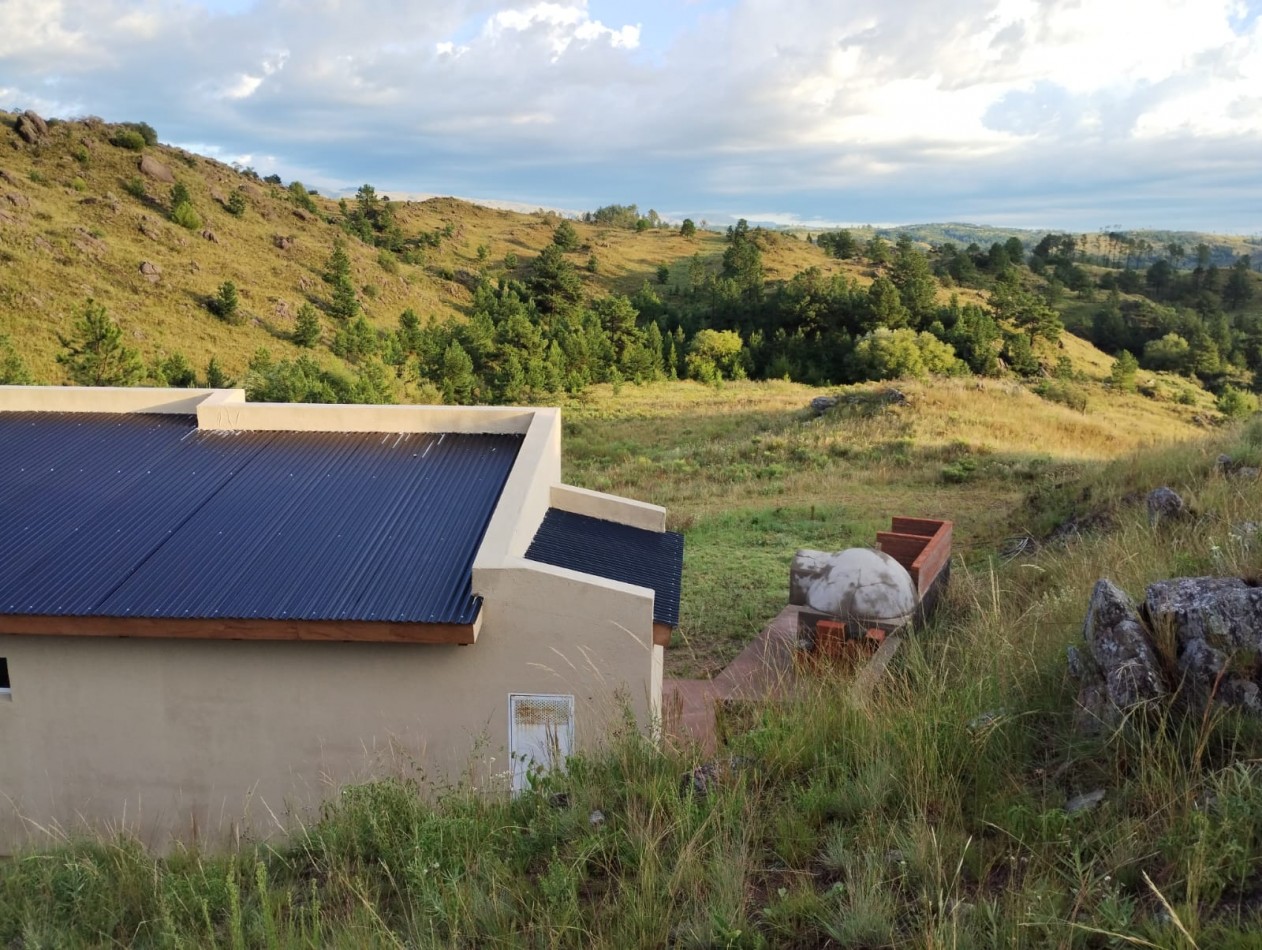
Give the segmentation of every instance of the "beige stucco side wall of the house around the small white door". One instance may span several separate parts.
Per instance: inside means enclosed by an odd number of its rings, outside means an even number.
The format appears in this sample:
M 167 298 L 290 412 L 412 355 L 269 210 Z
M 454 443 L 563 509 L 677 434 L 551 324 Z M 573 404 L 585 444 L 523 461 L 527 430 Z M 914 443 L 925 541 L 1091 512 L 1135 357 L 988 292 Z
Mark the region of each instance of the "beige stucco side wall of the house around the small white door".
M 582 578 L 496 572 L 472 646 L 0 636 L 0 853 L 53 826 L 276 835 L 371 775 L 485 785 L 509 768 L 510 693 L 573 694 L 579 748 L 623 700 L 647 729 L 651 593 Z

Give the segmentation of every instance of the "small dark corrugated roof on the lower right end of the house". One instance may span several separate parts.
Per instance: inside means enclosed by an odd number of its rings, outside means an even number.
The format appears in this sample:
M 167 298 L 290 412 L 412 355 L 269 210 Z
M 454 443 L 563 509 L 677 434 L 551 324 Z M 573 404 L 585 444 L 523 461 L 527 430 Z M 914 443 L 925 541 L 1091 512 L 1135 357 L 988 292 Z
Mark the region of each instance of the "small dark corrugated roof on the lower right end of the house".
M 679 626 L 684 536 L 549 508 L 526 558 L 654 592 L 652 619 Z

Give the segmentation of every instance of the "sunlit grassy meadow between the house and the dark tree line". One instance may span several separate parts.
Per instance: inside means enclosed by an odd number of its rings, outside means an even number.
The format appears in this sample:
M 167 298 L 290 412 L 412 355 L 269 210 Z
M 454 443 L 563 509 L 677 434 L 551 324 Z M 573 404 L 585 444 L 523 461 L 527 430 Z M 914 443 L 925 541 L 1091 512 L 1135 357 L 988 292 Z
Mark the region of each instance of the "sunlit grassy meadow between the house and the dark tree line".
M 664 505 L 687 539 L 671 675 L 722 669 L 786 599 L 798 548 L 872 544 L 891 515 L 957 522 L 962 554 L 1007 536 L 1041 535 L 1049 516 L 1022 507 L 1145 447 L 1198 438 L 1209 396 L 1160 375 L 1164 397 L 1106 391 L 1093 381 L 1109 361 L 1082 341 L 1066 352 L 1083 367 L 1085 409 L 1016 382 L 900 382 L 835 390 L 840 405 L 817 418 L 819 390 L 791 382 L 597 386 L 565 406 L 567 479 Z M 1196 394 L 1191 405 L 1174 394 Z M 1056 387 L 1049 389 L 1056 396 Z

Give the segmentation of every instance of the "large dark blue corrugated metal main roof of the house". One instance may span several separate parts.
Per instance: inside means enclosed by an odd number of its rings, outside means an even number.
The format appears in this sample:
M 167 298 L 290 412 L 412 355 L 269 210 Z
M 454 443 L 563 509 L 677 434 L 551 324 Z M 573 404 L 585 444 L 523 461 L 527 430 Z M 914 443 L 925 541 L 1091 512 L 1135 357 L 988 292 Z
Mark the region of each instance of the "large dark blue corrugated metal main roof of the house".
M 520 445 L 0 413 L 0 613 L 469 623 Z

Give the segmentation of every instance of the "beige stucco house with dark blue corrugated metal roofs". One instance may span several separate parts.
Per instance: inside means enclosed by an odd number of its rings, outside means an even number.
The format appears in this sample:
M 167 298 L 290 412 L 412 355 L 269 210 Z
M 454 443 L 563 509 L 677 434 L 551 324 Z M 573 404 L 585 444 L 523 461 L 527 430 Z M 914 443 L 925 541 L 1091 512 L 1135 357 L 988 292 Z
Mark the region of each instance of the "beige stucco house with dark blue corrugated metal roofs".
M 520 790 L 661 712 L 683 539 L 560 411 L 0 387 L 0 852 L 266 835 L 382 773 Z

